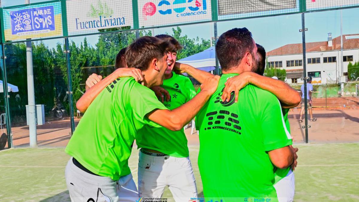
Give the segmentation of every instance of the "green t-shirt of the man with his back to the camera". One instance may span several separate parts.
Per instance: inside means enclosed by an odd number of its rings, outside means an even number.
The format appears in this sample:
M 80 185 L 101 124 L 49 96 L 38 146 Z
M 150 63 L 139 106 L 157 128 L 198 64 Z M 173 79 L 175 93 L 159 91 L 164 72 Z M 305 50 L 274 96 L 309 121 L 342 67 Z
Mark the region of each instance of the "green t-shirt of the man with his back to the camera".
M 274 166 L 268 151 L 292 144 L 279 100 L 253 85 L 222 102 L 224 83 L 238 74 L 223 74 L 216 92 L 200 110 L 199 170 L 208 199 L 238 201 L 247 197 L 276 201 Z M 197 128 L 197 129 L 198 129 Z

